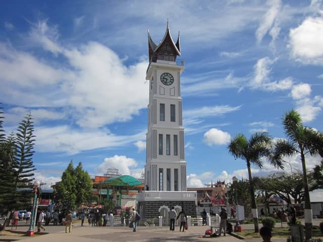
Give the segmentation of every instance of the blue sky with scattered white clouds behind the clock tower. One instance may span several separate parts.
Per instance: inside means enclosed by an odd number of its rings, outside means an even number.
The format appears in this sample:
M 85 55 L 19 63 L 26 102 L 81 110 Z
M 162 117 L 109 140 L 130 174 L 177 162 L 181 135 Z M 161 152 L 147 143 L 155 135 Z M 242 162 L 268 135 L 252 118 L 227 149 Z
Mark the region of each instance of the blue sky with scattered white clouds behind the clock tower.
M 188 187 L 233 175 L 237 133 L 284 138 L 283 114 L 323 130 L 323 3 L 312 1 L 2 1 L 0 102 L 8 133 L 29 111 L 35 176 L 48 185 L 73 159 L 90 174 L 145 163 L 147 28 L 181 35 Z M 286 158 L 301 169 L 299 157 Z M 308 168 L 319 162 L 307 157 Z M 265 164 L 254 175 L 275 171 Z M 290 172 L 289 165 L 286 171 Z

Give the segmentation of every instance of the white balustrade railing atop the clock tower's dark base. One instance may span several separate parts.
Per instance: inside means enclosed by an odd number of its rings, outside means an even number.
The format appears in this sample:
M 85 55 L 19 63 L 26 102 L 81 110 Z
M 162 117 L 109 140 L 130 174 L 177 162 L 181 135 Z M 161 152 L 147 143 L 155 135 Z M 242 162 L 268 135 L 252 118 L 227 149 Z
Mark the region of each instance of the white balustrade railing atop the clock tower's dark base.
M 142 193 L 138 193 L 137 200 L 138 202 L 154 201 L 154 200 L 195 201 L 196 191 L 191 191 L 191 192 L 145 191 Z

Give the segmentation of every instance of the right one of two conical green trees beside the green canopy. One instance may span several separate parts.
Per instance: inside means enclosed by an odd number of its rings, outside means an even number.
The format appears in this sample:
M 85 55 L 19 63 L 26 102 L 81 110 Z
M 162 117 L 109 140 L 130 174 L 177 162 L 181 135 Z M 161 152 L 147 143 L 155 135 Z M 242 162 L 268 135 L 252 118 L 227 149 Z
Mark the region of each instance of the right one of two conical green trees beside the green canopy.
M 83 170 L 81 162 L 75 168 L 75 176 L 76 205 L 80 207 L 92 197 L 92 180 L 87 171 Z

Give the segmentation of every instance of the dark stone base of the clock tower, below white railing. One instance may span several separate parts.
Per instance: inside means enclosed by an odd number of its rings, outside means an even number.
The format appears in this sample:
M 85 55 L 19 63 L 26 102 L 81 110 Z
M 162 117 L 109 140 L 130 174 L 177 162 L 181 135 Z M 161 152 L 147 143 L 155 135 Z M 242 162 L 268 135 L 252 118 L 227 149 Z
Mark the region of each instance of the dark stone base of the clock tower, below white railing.
M 143 219 L 158 218 L 161 215 L 160 208 L 171 209 L 173 206 L 175 210 L 179 207 L 184 209 L 187 216 L 196 217 L 195 201 L 142 201 L 138 202 L 137 211 Z

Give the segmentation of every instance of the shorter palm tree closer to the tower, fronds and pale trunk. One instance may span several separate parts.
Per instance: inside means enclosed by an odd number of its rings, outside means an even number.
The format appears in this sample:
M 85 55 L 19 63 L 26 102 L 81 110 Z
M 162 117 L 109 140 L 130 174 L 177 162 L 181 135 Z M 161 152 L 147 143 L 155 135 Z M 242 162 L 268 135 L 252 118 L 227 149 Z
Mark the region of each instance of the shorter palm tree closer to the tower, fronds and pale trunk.
M 251 164 L 261 168 L 262 157 L 270 157 L 272 149 L 272 138 L 266 132 L 257 132 L 253 134 L 249 140 L 243 135 L 238 134 L 231 139 L 228 145 L 229 153 L 235 158 L 245 160 L 248 168 L 250 196 L 251 196 L 251 210 L 254 222 L 254 231 L 258 232 L 258 216 L 257 205 L 254 195 L 254 183 L 251 175 Z M 273 165 L 282 168 L 282 162 L 270 159 Z

